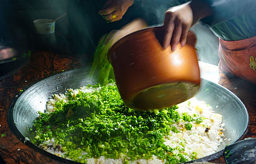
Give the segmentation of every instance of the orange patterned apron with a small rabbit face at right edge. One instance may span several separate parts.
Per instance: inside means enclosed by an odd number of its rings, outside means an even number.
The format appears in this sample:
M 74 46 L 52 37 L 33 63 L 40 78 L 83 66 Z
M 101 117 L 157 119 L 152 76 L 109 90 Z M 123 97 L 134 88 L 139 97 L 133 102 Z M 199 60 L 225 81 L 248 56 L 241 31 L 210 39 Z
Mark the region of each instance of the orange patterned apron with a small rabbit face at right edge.
M 219 68 L 256 84 L 256 37 L 238 41 L 219 39 Z

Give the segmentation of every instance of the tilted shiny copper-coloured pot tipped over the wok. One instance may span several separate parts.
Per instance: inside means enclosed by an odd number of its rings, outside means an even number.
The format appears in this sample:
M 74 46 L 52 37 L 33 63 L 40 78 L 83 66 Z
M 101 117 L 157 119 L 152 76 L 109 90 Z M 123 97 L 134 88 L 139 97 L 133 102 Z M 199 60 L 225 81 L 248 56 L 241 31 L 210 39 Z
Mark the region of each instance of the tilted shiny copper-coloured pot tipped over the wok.
M 170 107 L 199 91 L 196 36 L 189 31 L 186 45 L 172 51 L 171 46 L 162 48 L 158 33 L 159 27 L 138 30 L 121 38 L 108 52 L 121 97 L 137 110 Z

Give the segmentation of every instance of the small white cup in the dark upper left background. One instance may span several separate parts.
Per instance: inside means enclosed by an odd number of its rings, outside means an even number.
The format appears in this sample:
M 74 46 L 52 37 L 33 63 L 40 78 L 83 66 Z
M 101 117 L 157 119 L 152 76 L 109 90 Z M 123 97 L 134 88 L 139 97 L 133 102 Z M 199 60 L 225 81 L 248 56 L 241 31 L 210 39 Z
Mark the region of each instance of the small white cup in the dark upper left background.
M 55 31 L 55 22 L 53 19 L 34 20 L 35 32 L 37 34 L 52 34 Z

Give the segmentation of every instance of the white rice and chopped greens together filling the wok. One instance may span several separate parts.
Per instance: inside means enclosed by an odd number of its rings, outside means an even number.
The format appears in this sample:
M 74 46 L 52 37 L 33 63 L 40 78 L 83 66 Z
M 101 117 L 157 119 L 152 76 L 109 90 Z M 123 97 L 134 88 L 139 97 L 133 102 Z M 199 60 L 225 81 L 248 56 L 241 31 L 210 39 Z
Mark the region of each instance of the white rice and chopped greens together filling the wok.
M 183 163 L 213 154 L 223 141 L 222 116 L 203 101 L 136 111 L 114 82 L 55 94 L 39 114 L 30 141 L 80 163 Z

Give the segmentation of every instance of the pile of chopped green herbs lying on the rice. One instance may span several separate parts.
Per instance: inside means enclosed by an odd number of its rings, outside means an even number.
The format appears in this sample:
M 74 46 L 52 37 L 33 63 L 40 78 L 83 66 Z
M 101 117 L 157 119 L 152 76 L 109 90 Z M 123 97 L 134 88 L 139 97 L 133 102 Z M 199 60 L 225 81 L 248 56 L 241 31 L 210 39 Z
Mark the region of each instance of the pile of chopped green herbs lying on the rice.
M 202 118 L 196 115 L 191 117 L 183 113 L 180 116 L 177 106 L 151 112 L 136 111 L 124 104 L 116 85 L 102 86 L 93 93 L 79 92 L 75 96 L 68 91 L 67 95 L 67 103 L 63 100 L 55 103 L 55 112 L 40 113 L 32 130 L 34 144 L 54 138 L 54 146 L 62 146 L 64 157 L 81 163 L 86 163 L 86 158 L 100 156 L 124 157 L 128 163 L 128 160 L 150 159 L 156 155 L 166 159 L 167 164 L 187 162 L 196 157 L 193 153 L 190 159 L 185 158 L 181 153 L 184 148 L 171 148 L 164 144 L 164 138 L 170 131 L 179 133 L 173 123 L 200 123 Z M 74 114 L 67 119 L 70 110 Z M 191 127 L 192 124 L 186 124 L 187 130 Z M 174 154 L 174 149 L 179 149 L 180 153 Z

